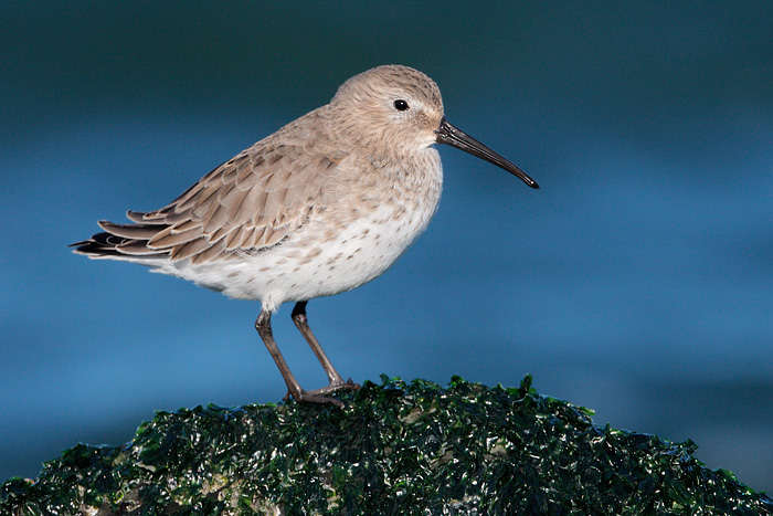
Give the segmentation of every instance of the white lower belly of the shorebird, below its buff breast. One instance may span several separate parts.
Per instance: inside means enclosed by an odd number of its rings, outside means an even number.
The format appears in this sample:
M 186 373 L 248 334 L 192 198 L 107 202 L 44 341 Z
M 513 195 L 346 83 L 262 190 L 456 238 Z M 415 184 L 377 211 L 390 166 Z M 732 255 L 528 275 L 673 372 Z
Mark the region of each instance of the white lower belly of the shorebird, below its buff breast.
M 339 294 L 386 271 L 426 229 L 438 200 L 440 191 L 411 210 L 381 206 L 336 224 L 320 218 L 288 241 L 253 255 L 202 265 L 167 262 L 158 272 L 229 297 L 260 299 L 268 310 L 285 302 Z

